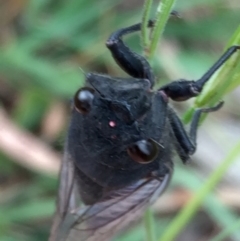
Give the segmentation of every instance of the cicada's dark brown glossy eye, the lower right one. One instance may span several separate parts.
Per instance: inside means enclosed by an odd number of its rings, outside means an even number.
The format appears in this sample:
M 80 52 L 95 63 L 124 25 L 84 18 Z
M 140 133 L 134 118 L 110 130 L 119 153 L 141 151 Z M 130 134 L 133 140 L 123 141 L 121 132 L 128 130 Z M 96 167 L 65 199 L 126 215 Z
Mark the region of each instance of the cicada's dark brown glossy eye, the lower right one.
M 127 152 L 134 161 L 141 164 L 148 164 L 157 157 L 159 146 L 152 139 L 144 139 L 128 147 Z

